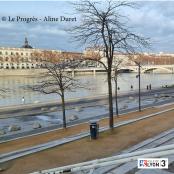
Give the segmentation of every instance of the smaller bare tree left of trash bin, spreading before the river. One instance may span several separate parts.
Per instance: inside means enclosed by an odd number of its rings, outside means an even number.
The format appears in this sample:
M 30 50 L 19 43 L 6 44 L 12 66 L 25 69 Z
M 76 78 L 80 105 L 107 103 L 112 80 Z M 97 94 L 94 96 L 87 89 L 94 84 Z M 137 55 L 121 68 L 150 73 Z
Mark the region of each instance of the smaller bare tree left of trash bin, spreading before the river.
M 36 55 L 38 56 L 39 53 Z M 33 91 L 43 94 L 55 93 L 61 97 L 63 128 L 66 128 L 65 92 L 73 91 L 80 87 L 78 81 L 72 77 L 71 73 L 78 66 L 79 62 L 68 61 L 62 54 L 52 52 L 50 54 L 49 52 L 42 54 L 42 59 L 45 60 L 44 68 L 46 72 L 39 76 L 41 80 L 38 84 L 28 87 Z

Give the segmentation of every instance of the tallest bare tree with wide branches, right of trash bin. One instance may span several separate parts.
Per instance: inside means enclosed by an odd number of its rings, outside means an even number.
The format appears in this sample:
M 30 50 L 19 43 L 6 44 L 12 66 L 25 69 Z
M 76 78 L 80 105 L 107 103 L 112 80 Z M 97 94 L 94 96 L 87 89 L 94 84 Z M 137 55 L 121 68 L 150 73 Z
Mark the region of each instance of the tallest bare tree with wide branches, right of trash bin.
M 127 18 L 121 15 L 121 10 L 134 7 L 132 2 L 110 0 L 102 3 L 82 0 L 74 5 L 82 19 L 81 23 L 71 30 L 75 41 L 93 48 L 100 46 L 107 59 L 107 63 L 103 65 L 107 72 L 108 81 L 109 126 L 113 128 L 111 72 L 114 52 L 135 52 L 142 46 L 148 46 L 148 40 L 131 32 L 126 26 L 126 22 L 122 22 Z

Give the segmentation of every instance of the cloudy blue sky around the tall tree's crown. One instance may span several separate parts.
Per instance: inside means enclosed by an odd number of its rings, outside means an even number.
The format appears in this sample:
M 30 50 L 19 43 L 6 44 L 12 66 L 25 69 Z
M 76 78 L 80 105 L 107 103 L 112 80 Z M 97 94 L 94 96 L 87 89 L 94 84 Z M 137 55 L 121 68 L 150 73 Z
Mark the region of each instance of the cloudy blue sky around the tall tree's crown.
M 125 9 L 128 25 L 135 33 L 151 38 L 149 52 L 174 53 L 174 1 L 141 1 L 138 8 Z M 20 18 L 37 18 L 25 22 Z M 45 17 L 57 17 L 59 21 L 44 21 Z M 60 22 L 60 16 L 76 21 Z M 15 18 L 15 21 L 12 19 Z M 82 51 L 84 46 L 72 42 L 66 29 L 78 25 L 80 17 L 74 13 L 69 1 L 0 1 L 0 46 L 21 47 L 24 38 L 34 48 L 65 51 Z

